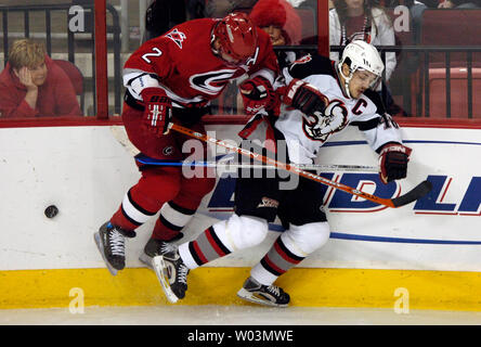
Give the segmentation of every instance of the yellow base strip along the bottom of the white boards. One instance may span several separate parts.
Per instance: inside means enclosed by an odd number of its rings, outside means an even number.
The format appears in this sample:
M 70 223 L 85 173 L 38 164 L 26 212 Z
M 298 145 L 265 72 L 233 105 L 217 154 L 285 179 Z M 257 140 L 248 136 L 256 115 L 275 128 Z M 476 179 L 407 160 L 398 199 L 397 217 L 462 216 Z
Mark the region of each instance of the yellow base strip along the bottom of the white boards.
M 199 268 L 176 305 L 250 305 L 236 293 L 249 268 Z M 481 311 L 481 273 L 295 268 L 277 282 L 290 306 Z M 167 303 L 154 272 L 128 268 L 0 271 L 0 308 L 145 306 Z

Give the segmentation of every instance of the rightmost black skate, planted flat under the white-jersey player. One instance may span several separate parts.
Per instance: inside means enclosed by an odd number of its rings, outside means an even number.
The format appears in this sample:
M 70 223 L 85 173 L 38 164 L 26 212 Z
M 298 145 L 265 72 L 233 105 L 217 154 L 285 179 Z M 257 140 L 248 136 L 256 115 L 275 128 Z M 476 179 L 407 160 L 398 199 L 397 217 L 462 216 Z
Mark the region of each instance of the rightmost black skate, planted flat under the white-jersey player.
M 237 292 L 237 296 L 251 303 L 287 307 L 290 297 L 281 287 L 276 285 L 263 285 L 252 278 L 248 278 L 244 282 L 244 286 Z

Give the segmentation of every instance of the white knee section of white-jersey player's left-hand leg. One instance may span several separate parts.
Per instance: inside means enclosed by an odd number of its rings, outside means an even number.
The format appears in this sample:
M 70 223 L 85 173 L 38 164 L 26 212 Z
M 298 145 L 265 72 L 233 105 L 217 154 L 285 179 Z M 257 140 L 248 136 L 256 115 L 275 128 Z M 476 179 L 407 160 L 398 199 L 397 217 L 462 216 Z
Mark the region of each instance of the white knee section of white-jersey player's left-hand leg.
M 231 252 L 260 244 L 269 231 L 268 221 L 258 217 L 232 215 L 213 226 L 216 234 Z

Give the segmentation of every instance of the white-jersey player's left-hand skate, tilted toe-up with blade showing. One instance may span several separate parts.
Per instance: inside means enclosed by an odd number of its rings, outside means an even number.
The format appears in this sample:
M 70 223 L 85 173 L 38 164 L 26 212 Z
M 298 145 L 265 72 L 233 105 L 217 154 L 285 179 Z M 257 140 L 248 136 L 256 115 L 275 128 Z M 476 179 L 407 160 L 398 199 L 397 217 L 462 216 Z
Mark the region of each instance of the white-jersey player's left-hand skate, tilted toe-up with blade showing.
M 154 257 L 152 262 L 167 299 L 176 304 L 184 298 L 188 268 L 182 261 L 177 247 L 174 250 Z

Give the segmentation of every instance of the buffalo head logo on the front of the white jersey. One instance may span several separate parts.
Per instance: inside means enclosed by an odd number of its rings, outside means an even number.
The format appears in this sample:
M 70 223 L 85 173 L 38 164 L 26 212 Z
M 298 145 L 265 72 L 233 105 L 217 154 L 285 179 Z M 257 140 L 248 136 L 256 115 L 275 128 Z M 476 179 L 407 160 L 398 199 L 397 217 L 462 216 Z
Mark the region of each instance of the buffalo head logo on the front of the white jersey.
M 347 125 L 348 110 L 340 100 L 333 100 L 324 113 L 315 112 L 302 120 L 306 136 L 323 143 L 330 134 L 342 130 Z

